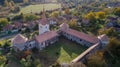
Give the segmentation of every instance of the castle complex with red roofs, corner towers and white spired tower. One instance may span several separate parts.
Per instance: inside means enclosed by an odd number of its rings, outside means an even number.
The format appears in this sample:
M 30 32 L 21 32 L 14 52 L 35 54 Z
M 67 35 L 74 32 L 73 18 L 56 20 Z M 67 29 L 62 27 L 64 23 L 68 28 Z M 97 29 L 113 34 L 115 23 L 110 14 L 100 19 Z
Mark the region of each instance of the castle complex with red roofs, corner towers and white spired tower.
M 104 47 L 109 42 L 108 37 L 105 35 L 100 35 L 96 37 L 71 29 L 69 28 L 67 22 L 62 23 L 58 31 L 51 31 L 49 29 L 49 23 L 47 21 L 44 9 L 43 9 L 42 18 L 39 21 L 38 26 L 39 26 L 39 35 L 35 36 L 33 40 L 28 40 L 21 34 L 18 34 L 15 38 L 13 38 L 12 40 L 13 48 L 16 51 L 32 49 L 34 47 L 38 48 L 39 50 L 42 50 L 43 48 L 58 41 L 58 36 L 61 35 L 71 41 L 74 41 L 76 43 L 79 43 L 80 45 L 84 45 L 87 47 L 91 47 L 96 43 L 100 43 L 99 46 Z

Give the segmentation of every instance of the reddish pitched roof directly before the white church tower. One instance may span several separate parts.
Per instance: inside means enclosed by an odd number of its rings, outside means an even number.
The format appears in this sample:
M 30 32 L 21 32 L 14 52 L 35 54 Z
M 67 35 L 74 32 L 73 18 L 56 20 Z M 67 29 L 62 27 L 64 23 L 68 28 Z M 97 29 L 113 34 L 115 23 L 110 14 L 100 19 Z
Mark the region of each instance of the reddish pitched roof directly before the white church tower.
M 48 31 L 45 32 L 44 34 L 36 36 L 35 39 L 38 43 L 42 43 L 56 36 L 58 36 L 58 34 L 55 31 Z

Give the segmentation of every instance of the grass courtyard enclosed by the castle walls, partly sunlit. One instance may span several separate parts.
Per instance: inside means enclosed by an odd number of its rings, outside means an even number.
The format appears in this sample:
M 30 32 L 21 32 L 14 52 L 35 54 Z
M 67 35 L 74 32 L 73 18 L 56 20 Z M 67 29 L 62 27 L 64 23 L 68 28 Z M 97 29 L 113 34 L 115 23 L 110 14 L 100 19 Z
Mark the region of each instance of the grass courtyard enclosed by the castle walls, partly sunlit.
M 44 65 L 46 65 L 47 62 L 48 66 L 54 64 L 56 61 L 60 63 L 69 63 L 86 49 L 86 47 L 81 46 L 80 44 L 60 38 L 58 42 L 49 45 L 41 51 L 40 55 L 42 55 L 42 58 L 40 58 L 40 60 L 42 59 L 41 62 L 44 63 Z

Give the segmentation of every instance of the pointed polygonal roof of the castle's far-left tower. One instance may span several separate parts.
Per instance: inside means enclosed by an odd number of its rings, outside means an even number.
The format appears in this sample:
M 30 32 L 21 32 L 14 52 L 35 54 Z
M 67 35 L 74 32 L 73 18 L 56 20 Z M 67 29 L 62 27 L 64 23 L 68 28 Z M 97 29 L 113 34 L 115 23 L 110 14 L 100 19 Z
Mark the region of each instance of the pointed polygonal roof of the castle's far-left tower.
M 21 34 L 18 34 L 17 36 L 15 36 L 15 38 L 13 38 L 12 43 L 13 44 L 22 44 L 22 43 L 26 43 L 28 39 L 26 37 L 24 37 Z

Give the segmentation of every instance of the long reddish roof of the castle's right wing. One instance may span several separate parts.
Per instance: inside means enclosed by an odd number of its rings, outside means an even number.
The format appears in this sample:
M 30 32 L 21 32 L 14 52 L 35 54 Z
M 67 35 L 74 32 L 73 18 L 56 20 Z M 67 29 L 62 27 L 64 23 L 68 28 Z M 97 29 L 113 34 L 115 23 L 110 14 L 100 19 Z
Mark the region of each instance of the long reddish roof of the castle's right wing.
M 83 39 L 85 41 L 88 41 L 90 43 L 97 43 L 99 41 L 99 39 L 95 36 L 90 36 L 88 34 L 85 34 L 85 33 L 70 29 L 70 28 L 68 28 L 67 30 L 63 30 L 63 31 L 70 34 L 70 35 L 78 37 L 80 39 Z

